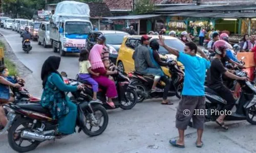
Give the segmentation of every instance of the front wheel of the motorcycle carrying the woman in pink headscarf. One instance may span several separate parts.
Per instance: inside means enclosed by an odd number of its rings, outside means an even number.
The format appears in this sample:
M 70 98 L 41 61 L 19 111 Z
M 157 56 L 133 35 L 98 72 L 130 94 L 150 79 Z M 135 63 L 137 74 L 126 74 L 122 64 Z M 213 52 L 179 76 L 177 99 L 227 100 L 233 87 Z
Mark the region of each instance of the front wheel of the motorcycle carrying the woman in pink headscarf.
M 129 90 L 124 93 L 124 100 L 120 103 L 120 108 L 123 110 L 132 109 L 138 100 L 137 92 L 134 90 Z M 127 105 L 125 105 L 127 104 Z

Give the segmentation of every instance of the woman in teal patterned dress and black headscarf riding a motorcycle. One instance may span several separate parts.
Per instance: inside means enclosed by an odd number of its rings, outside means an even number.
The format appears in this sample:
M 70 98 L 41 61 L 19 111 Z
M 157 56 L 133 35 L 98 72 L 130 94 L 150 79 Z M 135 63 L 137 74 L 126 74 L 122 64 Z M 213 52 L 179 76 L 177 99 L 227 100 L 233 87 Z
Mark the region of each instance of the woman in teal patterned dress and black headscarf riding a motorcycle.
M 77 106 L 65 92 L 75 92 L 81 86 L 68 86 L 57 71 L 60 57 L 50 56 L 41 69 L 42 92 L 40 104 L 50 110 L 53 119 L 58 120 L 58 134 L 68 135 L 75 131 Z

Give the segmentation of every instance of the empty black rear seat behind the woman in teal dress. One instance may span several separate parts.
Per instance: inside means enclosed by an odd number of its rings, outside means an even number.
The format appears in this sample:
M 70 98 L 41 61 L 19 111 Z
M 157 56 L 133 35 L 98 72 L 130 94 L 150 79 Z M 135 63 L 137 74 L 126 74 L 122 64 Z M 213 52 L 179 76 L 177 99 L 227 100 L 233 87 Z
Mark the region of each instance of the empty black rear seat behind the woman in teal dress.
M 43 108 L 40 104 L 28 103 L 28 104 L 17 104 L 17 106 L 19 106 L 22 109 L 35 111 L 38 113 L 45 113 L 45 114 L 50 113 L 48 109 Z

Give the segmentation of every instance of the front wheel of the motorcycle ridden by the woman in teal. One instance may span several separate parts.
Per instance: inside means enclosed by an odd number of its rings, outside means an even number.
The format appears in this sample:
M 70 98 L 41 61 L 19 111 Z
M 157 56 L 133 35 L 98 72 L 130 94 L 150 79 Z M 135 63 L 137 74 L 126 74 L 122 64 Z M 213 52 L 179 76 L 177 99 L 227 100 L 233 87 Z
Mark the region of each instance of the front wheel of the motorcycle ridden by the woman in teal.
M 101 105 L 96 105 L 93 106 L 93 112 L 94 112 L 94 117 L 98 120 L 97 123 L 93 122 L 93 119 L 91 117 L 91 114 L 89 113 L 84 113 L 84 116 L 86 117 L 86 120 L 84 121 L 84 128 L 82 128 L 82 131 L 90 136 L 90 137 L 94 137 L 94 136 L 98 136 L 100 134 L 102 134 L 105 129 L 106 126 L 108 126 L 109 124 L 109 115 L 106 112 L 106 109 L 104 107 L 102 107 Z M 97 112 L 101 112 L 102 115 L 98 115 Z M 102 125 L 100 124 L 102 122 L 102 118 L 103 117 L 103 123 Z M 87 124 L 89 123 L 90 127 L 87 126 Z M 99 129 L 97 131 L 92 131 L 93 127 L 98 127 Z

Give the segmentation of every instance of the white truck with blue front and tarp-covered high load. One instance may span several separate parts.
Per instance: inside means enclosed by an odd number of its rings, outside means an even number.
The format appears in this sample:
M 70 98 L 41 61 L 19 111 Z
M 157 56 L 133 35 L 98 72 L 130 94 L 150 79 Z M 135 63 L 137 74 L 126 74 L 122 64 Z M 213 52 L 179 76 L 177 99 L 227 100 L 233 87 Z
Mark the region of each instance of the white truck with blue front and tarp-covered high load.
M 65 56 L 79 53 L 93 27 L 89 21 L 90 8 L 85 3 L 63 1 L 57 4 L 50 19 L 50 39 L 53 51 Z

